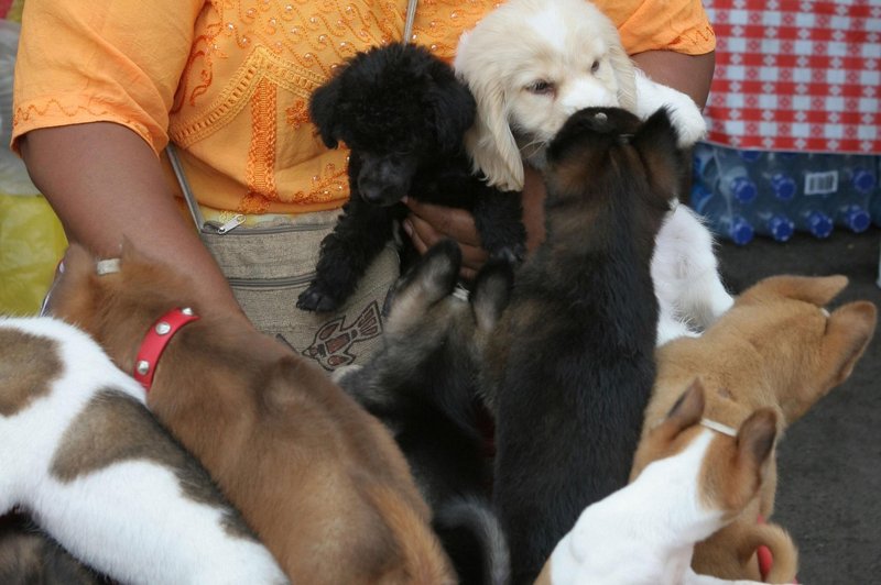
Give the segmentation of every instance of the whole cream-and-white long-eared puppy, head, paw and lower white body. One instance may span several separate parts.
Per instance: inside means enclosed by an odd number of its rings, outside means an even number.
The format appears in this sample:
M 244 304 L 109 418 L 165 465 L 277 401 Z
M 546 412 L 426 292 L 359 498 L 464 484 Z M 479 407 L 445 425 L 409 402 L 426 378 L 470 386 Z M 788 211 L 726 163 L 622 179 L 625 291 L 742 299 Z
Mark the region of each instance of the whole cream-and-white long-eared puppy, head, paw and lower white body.
M 477 101 L 466 134 L 474 170 L 504 190 L 523 189 L 524 161 L 542 169 L 551 139 L 586 107 L 624 108 L 642 119 L 666 107 L 681 147 L 706 133 L 694 100 L 639 70 L 614 24 L 588 0 L 504 2 L 463 34 L 454 67 Z M 719 278 L 713 235 L 676 203 L 652 260 L 659 345 L 697 335 L 733 302 Z

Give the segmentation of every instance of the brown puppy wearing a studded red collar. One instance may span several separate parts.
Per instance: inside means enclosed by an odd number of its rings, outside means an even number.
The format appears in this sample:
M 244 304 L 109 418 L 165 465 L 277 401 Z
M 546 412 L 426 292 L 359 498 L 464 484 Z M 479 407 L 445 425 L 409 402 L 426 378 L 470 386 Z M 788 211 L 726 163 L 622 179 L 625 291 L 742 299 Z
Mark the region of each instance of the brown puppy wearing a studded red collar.
M 104 266 L 104 264 L 102 264 Z M 144 334 L 174 307 L 200 319 L 174 334 L 148 406 L 202 460 L 294 583 L 447 583 L 394 441 L 317 366 L 238 314 L 193 303 L 182 276 L 123 245 L 99 276 L 72 246 L 50 309 L 132 372 Z

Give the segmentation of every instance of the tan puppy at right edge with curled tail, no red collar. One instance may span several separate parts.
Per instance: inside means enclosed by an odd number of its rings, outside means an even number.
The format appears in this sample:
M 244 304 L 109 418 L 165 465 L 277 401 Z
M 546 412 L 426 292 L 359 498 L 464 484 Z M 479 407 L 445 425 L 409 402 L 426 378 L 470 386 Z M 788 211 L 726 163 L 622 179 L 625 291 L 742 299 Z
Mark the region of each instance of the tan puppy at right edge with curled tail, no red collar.
M 707 418 L 738 428 L 755 410 L 770 407 L 780 413 L 781 431 L 847 379 L 874 333 L 877 310 L 869 301 L 856 301 L 826 311 L 823 307 L 846 286 L 844 276 L 766 278 L 740 295 L 703 338 L 659 347 L 657 378 L 631 477 L 665 456 L 663 449 L 644 443 L 696 377 L 707 390 Z M 695 571 L 759 580 L 754 551 L 765 544 L 775 560 L 768 580 L 792 582 L 794 547 L 773 525 L 755 523 L 759 515 L 768 518 L 773 511 L 775 489 L 772 457 L 759 497 L 737 521 L 696 547 Z

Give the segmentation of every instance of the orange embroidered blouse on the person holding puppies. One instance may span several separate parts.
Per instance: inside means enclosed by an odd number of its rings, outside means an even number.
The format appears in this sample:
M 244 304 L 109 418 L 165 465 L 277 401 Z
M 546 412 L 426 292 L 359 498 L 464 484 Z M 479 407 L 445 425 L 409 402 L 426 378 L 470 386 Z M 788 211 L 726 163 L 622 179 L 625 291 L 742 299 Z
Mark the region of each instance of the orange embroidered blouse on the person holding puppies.
M 700 0 L 599 0 L 631 54 L 704 54 Z M 452 59 L 494 0 L 422 0 L 415 41 Z M 309 93 L 357 51 L 400 40 L 406 0 L 28 0 L 13 140 L 37 128 L 123 124 L 156 153 L 178 145 L 199 202 L 305 212 L 348 197 L 346 153 L 327 151 Z M 170 174 L 171 177 L 171 174 Z

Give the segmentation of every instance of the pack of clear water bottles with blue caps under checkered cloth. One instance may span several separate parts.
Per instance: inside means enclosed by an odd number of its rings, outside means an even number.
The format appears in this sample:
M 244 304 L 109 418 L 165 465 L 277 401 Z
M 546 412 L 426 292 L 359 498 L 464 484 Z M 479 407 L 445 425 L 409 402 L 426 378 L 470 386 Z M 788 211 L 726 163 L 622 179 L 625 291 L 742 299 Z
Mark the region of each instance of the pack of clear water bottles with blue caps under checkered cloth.
M 881 225 L 879 157 L 741 151 L 698 143 L 690 206 L 720 238 L 785 242 L 795 231 L 828 238 Z M 872 216 L 872 213 L 874 214 Z

